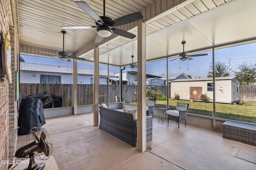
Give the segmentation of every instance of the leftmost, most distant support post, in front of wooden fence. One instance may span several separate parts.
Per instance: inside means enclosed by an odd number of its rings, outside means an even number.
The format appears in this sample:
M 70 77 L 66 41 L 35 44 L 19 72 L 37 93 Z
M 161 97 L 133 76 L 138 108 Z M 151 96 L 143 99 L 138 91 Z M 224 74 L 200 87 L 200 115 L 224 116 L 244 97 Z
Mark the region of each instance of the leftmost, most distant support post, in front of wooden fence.
M 77 60 L 73 62 L 73 113 L 77 115 Z

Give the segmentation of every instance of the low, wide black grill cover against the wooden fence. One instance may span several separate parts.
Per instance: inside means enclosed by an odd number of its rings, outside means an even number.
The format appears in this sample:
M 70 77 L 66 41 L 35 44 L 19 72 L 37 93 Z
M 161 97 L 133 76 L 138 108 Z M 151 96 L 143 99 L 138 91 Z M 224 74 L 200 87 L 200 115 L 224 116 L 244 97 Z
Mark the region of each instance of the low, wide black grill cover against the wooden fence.
M 32 94 L 28 95 L 24 98 L 37 98 L 42 100 L 43 109 L 62 107 L 62 98 L 56 96 L 54 94 L 46 93 L 46 94 Z M 22 98 L 22 99 L 24 99 Z

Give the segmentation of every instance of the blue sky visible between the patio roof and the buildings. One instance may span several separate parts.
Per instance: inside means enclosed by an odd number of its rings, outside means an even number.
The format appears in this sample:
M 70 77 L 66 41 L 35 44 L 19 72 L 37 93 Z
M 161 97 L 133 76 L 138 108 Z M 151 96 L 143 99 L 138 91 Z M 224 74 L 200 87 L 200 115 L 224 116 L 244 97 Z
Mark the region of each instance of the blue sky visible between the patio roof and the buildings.
M 208 53 L 207 56 L 192 57 L 193 60 L 190 61 L 180 61 L 176 59 L 170 61 L 169 59 L 169 74 L 172 73 L 182 73 L 192 76 L 192 78 L 198 77 L 207 77 L 207 72 L 210 69 L 212 63 L 212 51 L 204 52 Z M 23 57 L 26 63 L 38 63 L 38 64 L 52 64 L 60 66 L 73 66 L 73 62 L 62 61 L 60 59 L 47 59 L 42 57 L 34 56 L 25 56 Z M 256 64 L 256 43 L 250 43 L 246 45 L 239 45 L 235 47 L 228 47 L 223 49 L 215 50 L 215 63 L 220 61 L 225 63 L 227 67 L 229 66 L 229 57 L 230 57 L 230 66 L 231 70 L 238 70 L 238 66 L 242 63 Z M 177 58 L 177 57 L 176 57 Z M 175 59 L 175 58 L 173 58 Z M 78 62 L 78 67 L 80 68 L 93 68 L 91 63 Z M 100 66 L 100 69 L 107 69 L 107 66 Z M 110 67 L 110 72 L 117 73 L 119 68 Z M 126 68 L 125 71 L 132 70 Z M 134 71 L 137 69 L 135 68 Z M 166 60 L 154 61 L 146 63 L 146 73 L 152 75 L 166 74 Z M 234 72 L 231 71 L 231 76 L 234 76 Z

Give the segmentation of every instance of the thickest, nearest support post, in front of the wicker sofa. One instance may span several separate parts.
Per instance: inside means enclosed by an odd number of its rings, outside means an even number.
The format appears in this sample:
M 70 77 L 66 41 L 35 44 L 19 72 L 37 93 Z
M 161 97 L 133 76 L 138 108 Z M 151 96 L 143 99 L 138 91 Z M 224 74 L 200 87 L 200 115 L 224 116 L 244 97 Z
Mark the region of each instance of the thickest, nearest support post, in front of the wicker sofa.
M 137 150 L 146 151 L 146 24 L 138 23 Z

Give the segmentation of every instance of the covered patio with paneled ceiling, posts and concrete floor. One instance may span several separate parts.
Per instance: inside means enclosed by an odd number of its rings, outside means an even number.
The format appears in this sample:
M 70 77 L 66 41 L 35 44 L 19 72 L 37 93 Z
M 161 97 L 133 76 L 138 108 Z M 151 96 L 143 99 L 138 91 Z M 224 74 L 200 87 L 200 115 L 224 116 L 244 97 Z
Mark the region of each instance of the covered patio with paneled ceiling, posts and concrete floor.
M 9 23 L 13 29 L 11 35 L 15 35 L 16 38 L 15 55 L 12 55 L 13 72 L 19 70 L 19 54 L 58 59 L 58 52 L 62 51 L 63 47 L 61 26 L 95 24 L 74 0 L 39 2 L 5 0 L 5 2 L 6 6 L 8 4 L 12 6 L 11 10 L 5 8 L 10 10 L 9 17 L 12 18 L 13 15 L 17 22 Z M 85 2 L 98 15 L 103 14 L 102 0 Z M 154 119 L 153 139 L 146 143 L 145 75 L 147 62 L 166 60 L 168 80 L 168 61 L 183 51 L 182 40 L 187 42 L 185 50 L 188 53 L 211 51 L 213 68 L 215 49 L 256 42 L 254 22 L 256 2 L 254 0 L 246 2 L 243 0 L 112 0 L 106 3 L 106 15 L 112 19 L 134 12 L 141 12 L 144 18 L 118 26 L 118 29 L 136 35 L 135 39 L 112 34 L 104 38 L 101 43 L 95 43 L 97 33 L 93 29 L 65 30 L 67 32 L 65 51 L 94 64 L 94 99 L 93 105 L 78 106 L 76 99 L 79 60 L 72 59 L 74 70 L 72 107 L 45 110 L 46 114 L 54 112 L 56 116 L 62 114 L 62 117 L 48 118 L 46 125 L 43 126 L 53 139 L 52 156 L 59 169 L 255 169 L 254 163 L 235 157 L 239 149 L 255 152 L 255 146 L 222 138 L 222 123 L 226 120 L 216 118 L 215 96 L 212 117 L 189 114 L 187 127 L 181 123 L 179 130 L 174 122 L 168 127 L 166 122 L 161 123 Z M 8 10 L 5 10 L 6 14 Z M 5 23 L 8 23 L 8 19 Z M 9 24 L 5 25 L 4 31 L 9 29 Z M 121 72 L 122 68 L 130 65 L 131 55 L 134 55 L 133 62 L 138 64 L 138 147 L 132 147 L 98 128 L 99 66 L 104 65 L 107 69 L 110 66 L 118 67 Z M 3 86 L 9 89 L 6 79 L 1 81 Z M 214 81 L 215 78 L 213 84 Z M 18 86 L 14 83 L 10 85 L 13 89 Z M 168 88 L 170 87 L 167 86 L 167 90 Z M 214 91 L 213 86 L 213 93 Z M 9 96 L 8 92 L 9 90 L 5 90 L 2 94 Z M 108 97 L 106 96 L 106 103 Z M 166 97 L 166 107 L 168 107 L 170 96 Z M 122 98 L 121 94 L 119 98 Z M 5 145 L 12 147 L 9 156 L 13 156 L 14 148 L 19 148 L 25 142 L 23 136 L 17 137 L 17 143 L 15 140 L 18 102 L 15 100 L 1 106 L 8 110 L 4 112 L 6 127 L 9 127 L 6 122 L 11 120 L 10 128 L 6 128 L 1 135 L 6 132 L 5 136 L 14 137 L 14 140 Z M 124 106 L 134 107 L 122 102 L 108 106 L 117 109 Z

